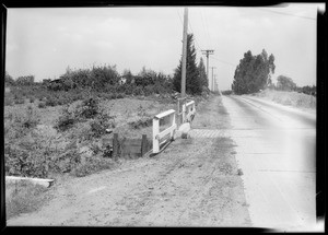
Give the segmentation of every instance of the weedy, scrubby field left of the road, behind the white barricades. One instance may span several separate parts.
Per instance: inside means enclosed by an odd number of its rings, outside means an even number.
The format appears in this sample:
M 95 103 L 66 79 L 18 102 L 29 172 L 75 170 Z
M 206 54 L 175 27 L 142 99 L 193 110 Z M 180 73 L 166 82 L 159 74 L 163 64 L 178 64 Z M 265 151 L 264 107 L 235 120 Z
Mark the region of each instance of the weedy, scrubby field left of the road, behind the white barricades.
M 201 96 L 192 99 L 204 101 Z M 40 103 L 25 99 L 4 106 L 5 175 L 54 178 L 56 185 L 119 167 L 127 160 L 114 161 L 103 139 L 118 133 L 119 138 L 147 134 L 151 140 L 153 116 L 177 107 L 175 98 L 156 94 L 115 99 L 93 95 L 56 106 Z M 9 216 L 37 210 L 47 197 L 47 190 L 26 184 L 7 184 L 7 189 Z

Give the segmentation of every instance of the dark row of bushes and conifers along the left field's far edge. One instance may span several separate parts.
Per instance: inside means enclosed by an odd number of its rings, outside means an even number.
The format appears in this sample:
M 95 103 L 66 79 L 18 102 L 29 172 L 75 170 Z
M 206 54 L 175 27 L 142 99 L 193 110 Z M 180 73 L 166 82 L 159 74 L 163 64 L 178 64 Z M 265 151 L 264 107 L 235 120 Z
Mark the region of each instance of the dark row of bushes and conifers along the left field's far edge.
M 187 72 L 186 93 L 200 95 L 208 92 L 208 80 L 203 60 L 196 62 L 196 49 L 194 46 L 194 35 L 187 37 Z M 34 77 L 20 77 L 13 80 L 5 73 L 7 85 L 34 85 Z M 98 92 L 126 89 L 147 89 L 156 93 L 173 93 L 181 90 L 181 60 L 174 71 L 174 77 L 148 70 L 144 67 L 138 74 L 132 74 L 130 70 L 125 70 L 119 74 L 115 66 L 93 67 L 92 69 L 67 69 L 66 73 L 57 80 L 43 80 L 42 85 L 51 91 L 70 91 L 74 89 L 87 89 Z

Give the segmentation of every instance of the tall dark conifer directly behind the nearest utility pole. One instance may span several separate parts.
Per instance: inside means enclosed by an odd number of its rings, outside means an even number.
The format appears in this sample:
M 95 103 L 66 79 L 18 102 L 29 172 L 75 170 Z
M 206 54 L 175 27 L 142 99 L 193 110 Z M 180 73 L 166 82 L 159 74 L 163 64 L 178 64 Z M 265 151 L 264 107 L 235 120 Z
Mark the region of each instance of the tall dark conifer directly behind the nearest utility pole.
M 181 91 L 181 67 L 183 60 L 180 59 L 179 66 L 175 69 L 173 77 L 174 89 L 177 92 Z M 196 49 L 194 46 L 194 35 L 187 36 L 187 72 L 186 72 L 186 93 L 201 94 L 202 82 L 200 80 L 199 70 L 196 63 Z

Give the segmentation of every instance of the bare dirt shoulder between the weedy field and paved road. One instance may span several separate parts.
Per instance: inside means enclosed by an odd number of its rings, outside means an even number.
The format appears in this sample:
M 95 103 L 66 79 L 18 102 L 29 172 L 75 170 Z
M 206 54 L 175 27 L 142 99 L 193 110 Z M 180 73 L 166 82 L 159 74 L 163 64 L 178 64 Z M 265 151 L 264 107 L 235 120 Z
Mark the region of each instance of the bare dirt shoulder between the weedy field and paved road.
M 208 105 L 218 105 L 219 111 L 220 103 L 214 97 Z M 201 122 L 198 118 L 206 116 L 196 116 Z M 156 156 L 70 179 L 55 195 L 39 211 L 13 218 L 8 225 L 250 225 L 230 138 L 178 139 Z

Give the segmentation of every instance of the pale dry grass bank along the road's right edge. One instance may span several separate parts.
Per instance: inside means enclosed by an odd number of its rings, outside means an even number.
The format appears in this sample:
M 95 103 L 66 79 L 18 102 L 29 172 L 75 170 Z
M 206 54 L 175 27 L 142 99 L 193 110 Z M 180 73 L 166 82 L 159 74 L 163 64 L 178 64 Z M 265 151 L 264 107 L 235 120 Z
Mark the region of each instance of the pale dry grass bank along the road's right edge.
M 262 97 L 282 105 L 316 109 L 317 99 L 312 95 L 306 95 L 297 92 L 282 92 L 282 91 L 270 91 L 266 90 L 258 94 L 258 97 Z

